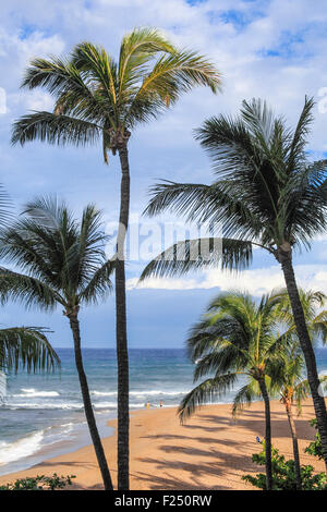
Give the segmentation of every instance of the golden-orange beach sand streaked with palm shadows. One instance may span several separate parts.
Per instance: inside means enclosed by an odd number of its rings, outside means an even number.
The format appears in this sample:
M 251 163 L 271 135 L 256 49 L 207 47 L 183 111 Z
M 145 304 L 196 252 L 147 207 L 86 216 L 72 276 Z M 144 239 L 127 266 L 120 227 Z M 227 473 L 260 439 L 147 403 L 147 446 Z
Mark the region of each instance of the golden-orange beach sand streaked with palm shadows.
M 294 411 L 296 414 L 296 411 Z M 311 401 L 303 405 L 296 417 L 301 462 L 324 471 L 323 462 L 304 453 L 315 430 L 308 424 L 314 417 Z M 282 404 L 271 402 L 272 443 L 287 458 L 292 456 L 292 442 Z M 110 422 L 114 426 L 116 422 Z M 253 403 L 240 414 L 237 422 L 231 417 L 231 405 L 206 405 L 180 425 L 174 407 L 137 411 L 131 416 L 131 489 L 251 489 L 241 476 L 258 471 L 251 455 L 261 447 L 256 436 L 264 437 L 264 404 Z M 104 439 L 106 454 L 116 486 L 116 436 Z M 3 475 L 0 483 L 37 474 L 76 475 L 69 489 L 101 489 L 93 447 L 82 448 L 41 464 Z

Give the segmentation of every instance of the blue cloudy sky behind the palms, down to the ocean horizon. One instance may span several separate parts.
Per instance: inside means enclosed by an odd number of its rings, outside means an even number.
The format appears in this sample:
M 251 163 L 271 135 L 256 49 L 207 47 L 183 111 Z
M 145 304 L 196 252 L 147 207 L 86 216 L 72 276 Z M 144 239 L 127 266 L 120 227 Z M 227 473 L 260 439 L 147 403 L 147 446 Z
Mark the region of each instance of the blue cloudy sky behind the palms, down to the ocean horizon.
M 116 225 L 119 206 L 118 157 L 104 164 L 98 146 L 58 148 L 40 143 L 10 144 L 11 124 L 29 110 L 49 110 L 52 99 L 41 89 L 22 90 L 20 82 L 31 59 L 68 54 L 83 40 L 99 44 L 117 56 L 122 36 L 133 27 L 162 31 L 180 48 L 194 49 L 216 63 L 222 92 L 197 88 L 183 96 L 159 120 L 140 126 L 130 142 L 132 221 L 141 218 L 148 191 L 160 179 L 210 183 L 210 161 L 194 141 L 193 130 L 210 115 L 237 114 L 243 99 L 265 98 L 276 113 L 294 125 L 305 95 L 314 96 L 310 158 L 327 153 L 327 11 L 324 0 L 12 0 L 0 4 L 0 181 L 16 211 L 38 195 L 58 194 L 81 214 L 88 203 L 104 210 L 107 229 Z M 159 219 L 160 220 L 160 219 Z M 162 220 L 162 218 L 161 218 Z M 175 219 L 171 219 L 174 221 Z M 128 313 L 131 348 L 181 348 L 187 330 L 206 305 L 230 289 L 258 297 L 282 285 L 277 263 L 261 251 L 241 276 L 218 269 L 179 279 L 149 280 L 138 276 L 156 244 L 147 239 L 146 255 L 128 264 Z M 158 228 L 156 224 L 156 229 Z M 141 257 L 142 256 L 142 257 Z M 299 283 L 327 293 L 327 236 L 294 258 Z M 72 346 L 62 312 L 26 312 L 8 304 L 1 325 L 45 326 L 55 346 Z M 81 312 L 84 346 L 114 346 L 114 302 Z

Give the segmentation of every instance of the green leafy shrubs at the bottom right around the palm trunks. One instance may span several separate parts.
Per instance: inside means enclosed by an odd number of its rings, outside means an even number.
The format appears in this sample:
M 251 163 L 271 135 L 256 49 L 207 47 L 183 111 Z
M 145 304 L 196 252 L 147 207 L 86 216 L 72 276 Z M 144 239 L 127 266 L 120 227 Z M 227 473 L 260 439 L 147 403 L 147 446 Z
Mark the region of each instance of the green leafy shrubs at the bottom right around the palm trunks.
M 266 463 L 265 449 L 252 455 L 252 462 L 264 466 Z M 286 460 L 279 454 L 277 448 L 271 449 L 272 490 L 296 490 L 295 464 L 293 460 Z M 244 475 L 243 480 L 250 481 L 254 487 L 266 489 L 266 475 L 259 473 L 255 476 Z M 325 473 L 314 474 L 310 464 L 301 466 L 302 490 L 327 490 L 327 476 Z

